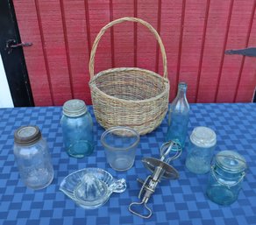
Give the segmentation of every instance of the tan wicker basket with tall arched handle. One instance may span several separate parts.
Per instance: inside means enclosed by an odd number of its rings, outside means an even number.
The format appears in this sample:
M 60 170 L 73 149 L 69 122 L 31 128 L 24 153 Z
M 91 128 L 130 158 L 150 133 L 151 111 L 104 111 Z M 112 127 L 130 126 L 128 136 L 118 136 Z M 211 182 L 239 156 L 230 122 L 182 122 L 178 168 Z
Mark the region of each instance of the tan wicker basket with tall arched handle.
M 137 67 L 119 67 L 94 74 L 96 48 L 104 32 L 124 21 L 146 26 L 160 45 L 164 75 Z M 153 131 L 166 116 L 169 99 L 167 57 L 159 34 L 139 18 L 119 18 L 98 33 L 89 59 L 89 87 L 96 120 L 103 128 L 126 126 L 140 135 Z

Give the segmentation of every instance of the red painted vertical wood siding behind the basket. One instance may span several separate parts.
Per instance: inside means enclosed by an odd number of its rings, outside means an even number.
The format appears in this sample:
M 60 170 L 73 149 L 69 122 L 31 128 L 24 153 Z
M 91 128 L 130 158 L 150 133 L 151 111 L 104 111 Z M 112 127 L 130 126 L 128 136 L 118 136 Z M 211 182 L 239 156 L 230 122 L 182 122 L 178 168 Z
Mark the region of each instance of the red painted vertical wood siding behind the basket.
M 91 103 L 89 53 L 103 25 L 122 17 L 149 22 L 167 51 L 170 101 L 179 81 L 188 102 L 251 102 L 256 58 L 225 55 L 256 46 L 256 0 L 13 0 L 37 106 L 71 98 Z M 96 72 L 142 67 L 162 74 L 160 49 L 141 25 L 106 32 L 96 52 Z

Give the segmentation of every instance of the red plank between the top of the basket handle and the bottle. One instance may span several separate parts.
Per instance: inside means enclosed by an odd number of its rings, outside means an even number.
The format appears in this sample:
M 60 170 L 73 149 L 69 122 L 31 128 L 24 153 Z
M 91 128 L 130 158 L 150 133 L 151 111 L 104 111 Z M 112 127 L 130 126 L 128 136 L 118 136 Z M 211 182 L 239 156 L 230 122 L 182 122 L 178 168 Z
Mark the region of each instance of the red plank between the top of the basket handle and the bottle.
M 170 101 L 176 95 L 176 75 L 181 33 L 182 1 L 162 1 L 160 36 L 167 52 L 168 79 L 170 81 Z M 159 53 L 159 73 L 163 74 L 161 54 Z

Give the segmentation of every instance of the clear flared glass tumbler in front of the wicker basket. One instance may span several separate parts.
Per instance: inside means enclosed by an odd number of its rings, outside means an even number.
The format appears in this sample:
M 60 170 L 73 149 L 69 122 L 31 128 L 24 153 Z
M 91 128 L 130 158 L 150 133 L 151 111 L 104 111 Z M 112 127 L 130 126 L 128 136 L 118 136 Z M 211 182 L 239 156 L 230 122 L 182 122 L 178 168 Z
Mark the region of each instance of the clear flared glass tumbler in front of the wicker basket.
M 105 130 L 101 137 L 107 161 L 116 171 L 129 170 L 135 159 L 139 133 L 128 127 Z

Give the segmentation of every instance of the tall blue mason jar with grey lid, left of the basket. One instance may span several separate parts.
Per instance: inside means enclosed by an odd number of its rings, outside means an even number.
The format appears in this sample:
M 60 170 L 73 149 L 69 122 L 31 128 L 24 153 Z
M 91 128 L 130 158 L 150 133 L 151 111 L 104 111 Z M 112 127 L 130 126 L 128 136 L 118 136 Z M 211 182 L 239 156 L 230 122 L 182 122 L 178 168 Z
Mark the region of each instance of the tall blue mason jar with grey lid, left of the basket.
M 65 102 L 60 123 L 68 155 L 89 156 L 94 150 L 93 123 L 85 103 L 78 99 Z

